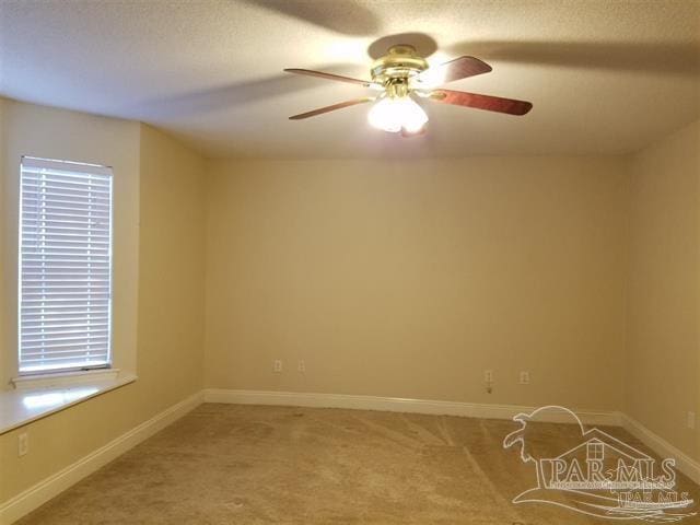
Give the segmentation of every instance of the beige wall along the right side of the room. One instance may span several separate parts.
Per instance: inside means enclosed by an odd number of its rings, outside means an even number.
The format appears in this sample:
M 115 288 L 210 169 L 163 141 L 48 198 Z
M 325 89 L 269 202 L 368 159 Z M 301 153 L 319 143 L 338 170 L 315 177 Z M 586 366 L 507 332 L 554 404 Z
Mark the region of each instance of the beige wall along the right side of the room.
M 700 458 L 686 427 L 688 411 L 700 417 L 700 121 L 631 171 L 625 411 Z

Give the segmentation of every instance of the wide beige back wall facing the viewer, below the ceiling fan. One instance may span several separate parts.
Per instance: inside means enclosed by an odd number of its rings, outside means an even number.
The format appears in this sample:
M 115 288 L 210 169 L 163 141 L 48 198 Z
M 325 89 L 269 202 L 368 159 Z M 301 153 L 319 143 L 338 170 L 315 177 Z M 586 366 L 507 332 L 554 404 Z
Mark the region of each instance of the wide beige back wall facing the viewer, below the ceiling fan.
M 621 160 L 214 162 L 208 184 L 208 387 L 618 408 Z

